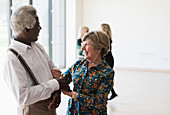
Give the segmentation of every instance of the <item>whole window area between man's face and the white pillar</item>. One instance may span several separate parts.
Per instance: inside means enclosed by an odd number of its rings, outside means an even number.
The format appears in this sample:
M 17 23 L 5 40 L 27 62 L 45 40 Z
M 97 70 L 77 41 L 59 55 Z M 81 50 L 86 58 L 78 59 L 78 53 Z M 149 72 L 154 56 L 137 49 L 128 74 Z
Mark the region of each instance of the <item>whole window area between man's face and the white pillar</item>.
M 40 25 L 39 41 L 57 67 L 65 67 L 65 0 L 34 0 Z

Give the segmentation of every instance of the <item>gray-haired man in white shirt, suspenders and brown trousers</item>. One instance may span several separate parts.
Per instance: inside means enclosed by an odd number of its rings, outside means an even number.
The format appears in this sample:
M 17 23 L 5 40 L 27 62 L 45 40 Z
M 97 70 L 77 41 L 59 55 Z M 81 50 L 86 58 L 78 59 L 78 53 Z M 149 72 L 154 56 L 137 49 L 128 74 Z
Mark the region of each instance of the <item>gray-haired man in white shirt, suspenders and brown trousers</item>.
M 9 48 L 16 50 L 30 67 L 39 84 L 34 85 L 28 71 L 16 55 L 7 51 L 4 63 L 4 79 L 18 102 L 18 115 L 56 115 L 49 108 L 49 98 L 54 91 L 63 90 L 68 84 L 53 79 L 51 69 L 56 68 L 44 48 L 37 43 L 41 26 L 36 9 L 31 5 L 18 8 L 11 16 L 14 32 Z M 58 76 L 59 69 L 55 69 Z M 69 87 L 69 86 L 68 86 Z M 56 98 L 60 98 L 60 92 Z

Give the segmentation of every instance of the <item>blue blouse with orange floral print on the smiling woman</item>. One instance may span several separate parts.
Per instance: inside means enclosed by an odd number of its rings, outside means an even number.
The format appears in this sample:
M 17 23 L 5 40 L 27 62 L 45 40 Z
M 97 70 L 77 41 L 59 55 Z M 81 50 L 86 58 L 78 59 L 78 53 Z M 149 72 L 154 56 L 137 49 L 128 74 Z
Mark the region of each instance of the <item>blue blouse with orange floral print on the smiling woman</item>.
M 67 115 L 106 115 L 107 97 L 113 87 L 114 71 L 103 60 L 88 70 L 88 61 L 77 61 L 62 77 L 73 81 L 77 101 L 69 99 Z

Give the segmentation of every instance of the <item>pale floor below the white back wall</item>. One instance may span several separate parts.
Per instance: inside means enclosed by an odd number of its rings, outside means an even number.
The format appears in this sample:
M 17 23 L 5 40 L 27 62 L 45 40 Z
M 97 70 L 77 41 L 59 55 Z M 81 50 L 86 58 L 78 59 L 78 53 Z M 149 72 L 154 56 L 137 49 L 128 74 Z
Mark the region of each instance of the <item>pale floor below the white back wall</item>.
M 108 115 L 170 115 L 170 73 L 117 70 L 115 90 Z M 62 95 L 58 115 L 65 115 L 67 99 Z

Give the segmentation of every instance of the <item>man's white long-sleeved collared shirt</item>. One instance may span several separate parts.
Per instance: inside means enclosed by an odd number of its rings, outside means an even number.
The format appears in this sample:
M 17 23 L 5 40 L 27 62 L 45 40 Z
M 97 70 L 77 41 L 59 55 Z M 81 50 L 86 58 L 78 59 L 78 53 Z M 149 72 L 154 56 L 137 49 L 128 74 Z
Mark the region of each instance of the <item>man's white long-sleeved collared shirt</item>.
M 28 46 L 12 39 L 9 48 L 15 49 L 24 58 L 39 82 L 39 85 L 33 86 L 33 81 L 19 59 L 8 50 L 3 76 L 20 109 L 49 98 L 55 90 L 59 89 L 59 83 L 53 79 L 50 71 L 50 68 L 56 67 L 40 44 L 33 42 Z

